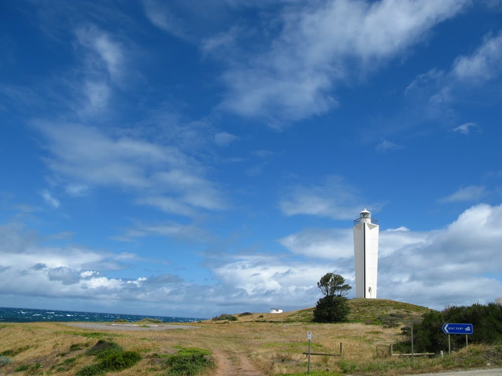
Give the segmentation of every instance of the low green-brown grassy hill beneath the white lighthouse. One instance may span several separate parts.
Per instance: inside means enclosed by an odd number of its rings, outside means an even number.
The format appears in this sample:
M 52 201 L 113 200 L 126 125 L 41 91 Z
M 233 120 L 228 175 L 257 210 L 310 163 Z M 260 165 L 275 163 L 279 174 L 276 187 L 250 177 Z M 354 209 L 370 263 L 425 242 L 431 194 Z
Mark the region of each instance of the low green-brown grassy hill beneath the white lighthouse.
M 368 324 L 406 324 L 412 320 L 420 319 L 431 309 L 389 299 L 349 299 L 349 322 L 362 322 Z M 235 314 L 240 322 L 246 321 L 279 321 L 279 322 L 310 322 L 313 309 L 305 308 L 282 313 L 253 313 L 240 316 Z M 208 320 L 210 321 L 210 320 Z

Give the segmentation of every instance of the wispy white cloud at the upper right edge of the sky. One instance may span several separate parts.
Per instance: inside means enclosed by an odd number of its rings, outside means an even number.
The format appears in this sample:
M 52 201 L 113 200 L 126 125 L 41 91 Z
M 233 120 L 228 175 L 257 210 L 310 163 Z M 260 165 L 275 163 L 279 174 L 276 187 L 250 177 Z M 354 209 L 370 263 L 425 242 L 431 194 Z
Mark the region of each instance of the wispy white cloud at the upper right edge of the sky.
M 483 82 L 502 73 L 502 32 L 487 36 L 470 56 L 460 56 L 453 63 L 453 74 L 460 80 Z

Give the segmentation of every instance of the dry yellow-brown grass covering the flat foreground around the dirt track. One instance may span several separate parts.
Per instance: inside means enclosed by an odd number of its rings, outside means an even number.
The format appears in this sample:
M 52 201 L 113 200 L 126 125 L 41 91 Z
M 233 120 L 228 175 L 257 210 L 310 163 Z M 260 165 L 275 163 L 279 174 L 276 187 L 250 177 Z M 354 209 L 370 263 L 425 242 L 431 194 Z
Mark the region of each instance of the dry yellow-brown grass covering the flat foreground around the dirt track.
M 312 356 L 313 374 L 324 374 L 320 370 L 330 368 L 330 374 L 343 371 L 353 374 L 393 375 L 420 373 L 420 371 L 444 370 L 454 367 L 483 366 L 485 358 L 478 356 L 486 352 L 483 347 L 470 347 L 469 353 L 459 352 L 456 357 L 444 359 L 397 359 L 376 356 L 377 344 L 389 344 L 399 340 L 399 327 L 367 325 L 362 323 L 314 324 L 308 322 L 270 322 L 254 314 L 239 317 L 229 324 L 211 322 L 193 323 L 201 326 L 192 330 L 163 331 L 105 331 L 101 335 L 95 330 L 70 327 L 59 323 L 17 323 L 6 324 L 0 329 L 2 341 L 0 352 L 20 350 L 13 355 L 13 364 L 2 367 L 2 374 L 17 376 L 28 372 L 14 372 L 21 364 L 43 366 L 44 374 L 61 376 L 74 375 L 82 366 L 94 361 L 86 356 L 85 350 L 100 338 L 117 342 L 124 350 L 139 351 L 143 359 L 130 369 L 108 372 L 107 375 L 147 376 L 165 374 L 154 353 L 173 354 L 182 347 L 198 347 L 212 352 L 223 352 L 228 359 L 241 354 L 249 357 L 255 367 L 266 375 L 305 373 L 307 358 L 307 331 L 312 331 L 312 352 L 338 353 L 343 342 L 344 357 Z M 264 314 L 265 320 L 270 320 Z M 272 314 L 274 318 L 281 318 Z M 94 334 L 93 334 L 94 333 Z M 73 345 L 73 346 L 72 346 Z M 26 346 L 31 346 L 26 348 Z M 81 349 L 72 348 L 82 347 Z M 476 353 L 477 351 L 477 353 Z M 484 351 L 484 352 L 483 352 Z M 501 350 L 502 351 L 502 350 Z M 500 358 L 499 353 L 493 357 Z M 73 359 L 74 360 L 68 360 Z M 65 363 L 67 361 L 67 363 Z M 233 360 L 232 360 L 233 361 Z M 495 365 L 495 362 L 492 362 Z M 209 372 L 215 373 L 216 370 Z M 335 372 L 335 373 L 333 373 Z

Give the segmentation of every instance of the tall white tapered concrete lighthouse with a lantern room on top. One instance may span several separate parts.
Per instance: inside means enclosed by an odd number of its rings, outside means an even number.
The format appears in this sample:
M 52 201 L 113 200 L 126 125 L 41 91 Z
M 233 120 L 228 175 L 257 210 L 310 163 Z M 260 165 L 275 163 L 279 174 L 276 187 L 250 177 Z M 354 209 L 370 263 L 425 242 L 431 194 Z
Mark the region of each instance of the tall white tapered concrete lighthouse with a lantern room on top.
M 377 220 L 364 208 L 354 221 L 355 297 L 376 299 L 378 272 Z

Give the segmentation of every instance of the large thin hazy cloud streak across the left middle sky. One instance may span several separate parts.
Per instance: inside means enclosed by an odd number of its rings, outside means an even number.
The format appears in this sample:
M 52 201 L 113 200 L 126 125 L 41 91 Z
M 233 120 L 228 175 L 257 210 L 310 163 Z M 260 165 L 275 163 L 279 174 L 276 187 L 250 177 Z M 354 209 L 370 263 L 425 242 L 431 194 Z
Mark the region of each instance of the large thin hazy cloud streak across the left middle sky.
M 69 194 L 83 194 L 96 185 L 118 186 L 138 195 L 140 205 L 181 215 L 226 206 L 217 184 L 204 176 L 204 167 L 178 146 L 79 124 L 34 125 L 46 140 L 49 168 L 66 180 L 80 182 L 67 185 Z

